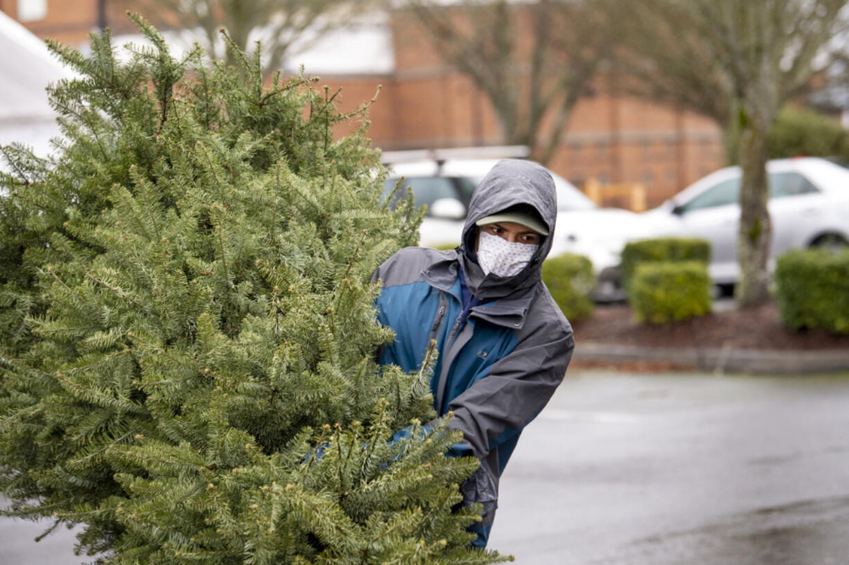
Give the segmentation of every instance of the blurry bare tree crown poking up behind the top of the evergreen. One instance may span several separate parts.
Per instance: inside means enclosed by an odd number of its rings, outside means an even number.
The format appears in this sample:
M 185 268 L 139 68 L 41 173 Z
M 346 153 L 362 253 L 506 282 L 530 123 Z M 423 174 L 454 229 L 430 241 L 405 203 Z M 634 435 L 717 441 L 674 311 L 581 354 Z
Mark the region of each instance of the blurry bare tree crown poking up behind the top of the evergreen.
M 118 0 L 157 25 L 197 28 L 215 59 L 229 60 L 222 28 L 243 51 L 262 42 L 263 68 L 273 73 L 295 49 L 309 47 L 328 31 L 349 25 L 377 0 Z

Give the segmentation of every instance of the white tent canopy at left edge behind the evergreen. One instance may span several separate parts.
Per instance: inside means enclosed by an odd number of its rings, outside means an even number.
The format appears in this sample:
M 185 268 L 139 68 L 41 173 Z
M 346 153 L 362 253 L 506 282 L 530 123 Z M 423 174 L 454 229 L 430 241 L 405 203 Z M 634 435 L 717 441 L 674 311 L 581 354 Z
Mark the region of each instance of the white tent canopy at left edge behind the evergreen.
M 68 76 L 42 40 L 0 12 L 0 145 L 20 142 L 48 153 L 59 128 L 45 88 Z

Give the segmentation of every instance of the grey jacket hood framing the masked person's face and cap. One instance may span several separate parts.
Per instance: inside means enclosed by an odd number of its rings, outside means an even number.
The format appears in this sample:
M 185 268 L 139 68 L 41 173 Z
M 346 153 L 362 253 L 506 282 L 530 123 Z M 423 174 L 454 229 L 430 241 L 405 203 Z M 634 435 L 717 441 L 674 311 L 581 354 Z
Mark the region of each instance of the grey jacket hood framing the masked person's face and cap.
M 472 260 L 477 227 L 475 222 L 517 204 L 530 204 L 548 227 L 548 236 L 540 243 L 537 253 L 514 277 L 484 277 L 481 267 Z M 475 188 L 469 203 L 469 214 L 463 227 L 460 260 L 472 292 L 481 299 L 506 296 L 519 288 L 528 288 L 542 280 L 543 259 L 551 249 L 554 223 L 557 219 L 557 193 L 554 180 L 543 167 L 521 159 L 498 161 Z

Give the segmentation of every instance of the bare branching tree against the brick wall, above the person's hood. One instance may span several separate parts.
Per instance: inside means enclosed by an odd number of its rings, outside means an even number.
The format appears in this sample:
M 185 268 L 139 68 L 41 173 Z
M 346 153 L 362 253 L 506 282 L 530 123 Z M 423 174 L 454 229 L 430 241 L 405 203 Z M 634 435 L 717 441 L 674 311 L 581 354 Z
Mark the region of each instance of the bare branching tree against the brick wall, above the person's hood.
M 578 98 L 610 53 L 601 0 L 408 0 L 441 58 L 481 89 L 505 143 L 548 162 Z

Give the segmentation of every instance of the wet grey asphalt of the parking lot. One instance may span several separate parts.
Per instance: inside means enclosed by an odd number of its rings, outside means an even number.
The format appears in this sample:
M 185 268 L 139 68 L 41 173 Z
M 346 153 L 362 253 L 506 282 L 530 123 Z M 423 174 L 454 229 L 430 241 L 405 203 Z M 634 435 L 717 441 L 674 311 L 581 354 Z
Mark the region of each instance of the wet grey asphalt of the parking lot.
M 0 503 L 2 504 L 2 503 Z M 76 565 L 0 519 L 0 565 Z M 518 565 L 849 563 L 849 374 L 570 371 L 501 482 Z

